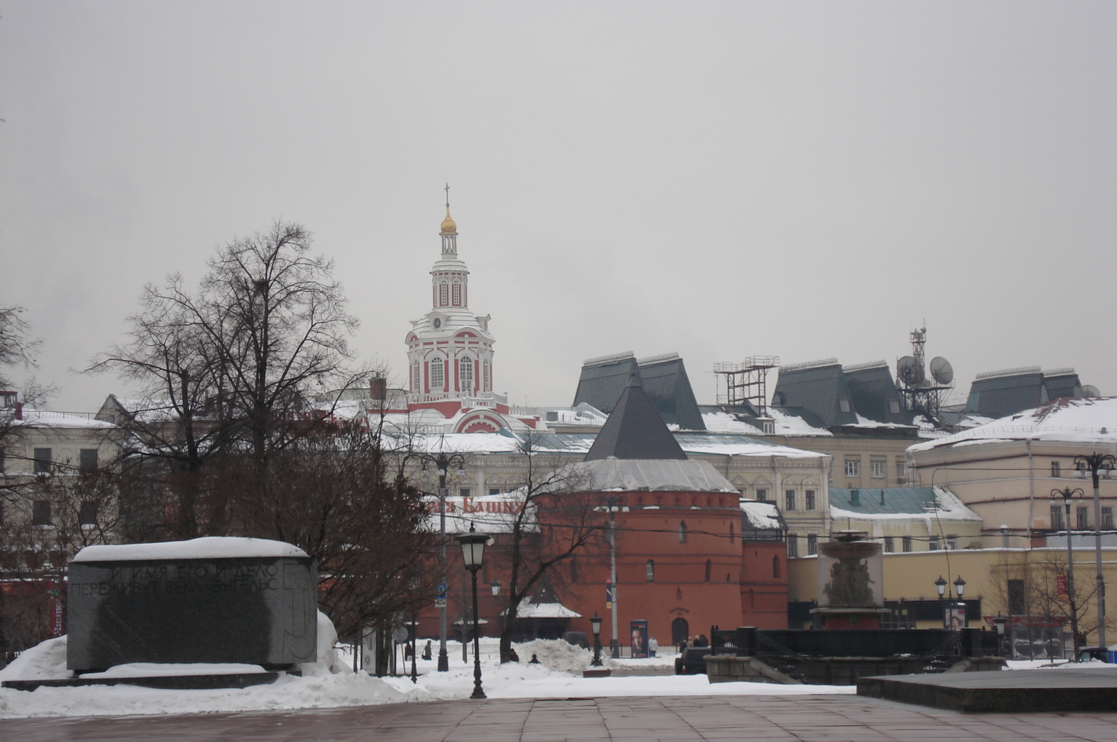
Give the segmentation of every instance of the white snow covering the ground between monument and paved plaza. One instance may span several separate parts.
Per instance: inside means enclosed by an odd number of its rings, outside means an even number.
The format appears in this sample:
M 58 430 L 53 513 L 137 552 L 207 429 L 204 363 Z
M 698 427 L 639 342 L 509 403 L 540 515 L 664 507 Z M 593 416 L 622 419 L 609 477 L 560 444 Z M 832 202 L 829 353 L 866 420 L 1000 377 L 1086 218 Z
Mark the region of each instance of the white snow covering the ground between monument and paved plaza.
M 420 647 L 421 648 L 421 647 Z M 216 691 L 170 691 L 135 685 L 40 687 L 37 691 L 0 688 L 0 717 L 86 716 L 123 714 L 182 714 L 284 709 L 327 709 L 382 703 L 468 698 L 474 690 L 472 655 L 462 663 L 460 645 L 451 645 L 450 671 L 438 673 L 436 661 L 417 662 L 419 682 L 410 677 L 376 678 L 354 674 L 344 657 L 323 663 L 304 677 L 280 676 L 268 685 Z M 705 675 L 660 675 L 583 678 L 590 653 L 565 642 L 531 642 L 516 646 L 521 663 L 498 665 L 483 658 L 485 693 L 490 698 L 553 698 L 628 695 L 744 695 L 853 693 L 849 686 L 715 683 Z M 528 664 L 532 654 L 541 664 Z M 670 664 L 674 657 L 608 661 L 621 666 Z M 328 672 L 331 665 L 335 672 Z M 349 665 L 349 666 L 347 666 Z M 410 668 L 410 663 L 408 663 Z M 209 668 L 208 668 L 209 669 Z M 306 668 L 311 669 L 311 668 Z M 115 675 L 136 668 L 116 668 Z M 168 671 L 169 672 L 169 671 Z M 68 677 L 66 639 L 60 637 L 22 653 L 0 680 Z

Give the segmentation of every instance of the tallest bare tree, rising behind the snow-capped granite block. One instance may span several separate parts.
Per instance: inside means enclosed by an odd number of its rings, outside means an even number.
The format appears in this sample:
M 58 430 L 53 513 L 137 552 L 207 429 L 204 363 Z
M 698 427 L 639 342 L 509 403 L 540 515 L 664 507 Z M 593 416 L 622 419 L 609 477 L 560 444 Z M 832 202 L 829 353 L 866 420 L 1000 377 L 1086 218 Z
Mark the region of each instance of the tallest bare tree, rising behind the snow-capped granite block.
M 305 435 L 319 385 L 345 388 L 367 373 L 346 370 L 357 321 L 332 273 L 304 228 L 276 222 L 219 249 L 197 290 L 180 276 L 147 286 L 131 340 L 90 367 L 142 389 L 121 424 L 139 443 L 134 471 L 173 505 L 173 538 L 225 532 L 216 472 L 240 466 L 247 450 L 261 473 Z

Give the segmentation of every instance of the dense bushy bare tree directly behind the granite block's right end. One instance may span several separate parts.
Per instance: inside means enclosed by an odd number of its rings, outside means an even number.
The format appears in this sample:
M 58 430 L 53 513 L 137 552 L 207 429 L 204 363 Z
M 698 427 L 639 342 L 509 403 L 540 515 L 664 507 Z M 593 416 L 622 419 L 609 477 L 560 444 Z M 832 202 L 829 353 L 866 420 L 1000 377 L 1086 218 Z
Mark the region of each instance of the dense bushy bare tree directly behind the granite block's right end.
M 389 626 L 433 596 L 427 505 L 378 428 L 322 421 L 275 452 L 262 474 L 242 461 L 226 472 L 230 531 L 287 541 L 316 559 L 319 604 L 342 636 Z

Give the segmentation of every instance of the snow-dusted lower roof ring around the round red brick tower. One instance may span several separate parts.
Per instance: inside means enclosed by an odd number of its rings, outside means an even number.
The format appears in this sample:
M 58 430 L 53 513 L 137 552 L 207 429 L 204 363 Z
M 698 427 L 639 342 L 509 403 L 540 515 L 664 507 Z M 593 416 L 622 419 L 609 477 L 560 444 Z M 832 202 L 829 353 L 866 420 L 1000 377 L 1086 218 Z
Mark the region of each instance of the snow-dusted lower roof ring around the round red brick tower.
M 680 459 L 594 459 L 570 465 L 584 492 L 734 492 L 708 462 Z M 579 480 L 577 476 L 584 476 Z

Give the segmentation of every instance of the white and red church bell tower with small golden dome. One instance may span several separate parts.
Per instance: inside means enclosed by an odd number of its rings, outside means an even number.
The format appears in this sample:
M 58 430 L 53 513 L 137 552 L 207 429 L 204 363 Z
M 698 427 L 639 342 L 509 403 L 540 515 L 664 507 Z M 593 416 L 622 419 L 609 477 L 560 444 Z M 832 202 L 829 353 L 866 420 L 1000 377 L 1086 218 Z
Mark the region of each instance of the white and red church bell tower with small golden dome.
M 458 258 L 458 228 L 446 219 L 442 254 L 431 268 L 431 310 L 408 333 L 408 412 L 433 409 L 455 433 L 495 433 L 515 422 L 508 402 L 493 392 L 489 315 L 469 310 L 469 270 Z M 535 427 L 537 418 L 515 418 Z M 517 425 L 518 426 L 518 425 Z

